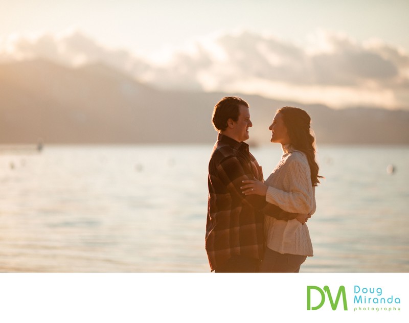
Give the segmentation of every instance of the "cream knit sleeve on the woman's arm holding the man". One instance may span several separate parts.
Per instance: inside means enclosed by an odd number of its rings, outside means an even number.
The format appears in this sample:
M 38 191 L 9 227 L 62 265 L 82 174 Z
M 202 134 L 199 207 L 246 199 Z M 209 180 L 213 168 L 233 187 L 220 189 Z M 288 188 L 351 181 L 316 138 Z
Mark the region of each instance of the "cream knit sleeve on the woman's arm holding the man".
M 286 160 L 284 167 L 289 184 L 289 192 L 269 186 L 266 201 L 291 213 L 309 214 L 315 211 L 314 192 L 308 162 L 301 153 L 293 153 Z

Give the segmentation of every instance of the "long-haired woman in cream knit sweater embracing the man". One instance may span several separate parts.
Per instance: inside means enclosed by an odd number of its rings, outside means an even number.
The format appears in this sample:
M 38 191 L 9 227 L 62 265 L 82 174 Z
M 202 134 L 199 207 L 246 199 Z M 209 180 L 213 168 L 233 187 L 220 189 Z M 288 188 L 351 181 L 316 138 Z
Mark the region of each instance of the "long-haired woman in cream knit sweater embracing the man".
M 243 181 L 243 193 L 258 194 L 266 201 L 291 213 L 315 212 L 315 187 L 320 182 L 319 167 L 315 162 L 314 137 L 310 130 L 311 118 L 302 109 L 279 109 L 268 129 L 272 143 L 279 143 L 283 156 L 263 183 Z M 312 257 L 312 244 L 306 224 L 265 217 L 266 252 L 261 272 L 299 272 L 306 258 Z

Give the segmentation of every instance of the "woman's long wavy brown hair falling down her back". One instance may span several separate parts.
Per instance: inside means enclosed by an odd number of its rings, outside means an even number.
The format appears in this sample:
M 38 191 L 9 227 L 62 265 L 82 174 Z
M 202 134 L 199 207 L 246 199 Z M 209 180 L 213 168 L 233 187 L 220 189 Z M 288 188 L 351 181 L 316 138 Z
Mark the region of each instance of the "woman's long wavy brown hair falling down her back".
M 311 170 L 312 186 L 320 183 L 318 175 L 319 167 L 315 162 L 315 138 L 310 132 L 311 118 L 306 111 L 300 108 L 283 107 L 277 110 L 283 116 L 284 125 L 294 149 L 305 153 Z

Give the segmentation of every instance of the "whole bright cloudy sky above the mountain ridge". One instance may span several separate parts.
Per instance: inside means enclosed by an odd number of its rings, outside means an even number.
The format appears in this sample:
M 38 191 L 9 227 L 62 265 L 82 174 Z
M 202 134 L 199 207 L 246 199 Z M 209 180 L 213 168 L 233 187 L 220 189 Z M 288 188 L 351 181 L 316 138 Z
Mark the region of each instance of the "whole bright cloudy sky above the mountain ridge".
M 102 61 L 158 87 L 409 109 L 406 0 L 0 0 L 0 61 Z

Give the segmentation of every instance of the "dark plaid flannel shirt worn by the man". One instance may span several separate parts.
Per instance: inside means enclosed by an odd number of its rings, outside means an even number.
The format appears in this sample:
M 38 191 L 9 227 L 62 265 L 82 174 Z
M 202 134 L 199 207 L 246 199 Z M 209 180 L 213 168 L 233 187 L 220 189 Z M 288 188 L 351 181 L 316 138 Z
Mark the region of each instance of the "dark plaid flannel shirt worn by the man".
M 242 193 L 244 179 L 263 180 L 248 145 L 219 134 L 209 162 L 206 251 L 211 270 L 233 255 L 262 259 L 264 215 L 289 220 L 297 214 L 267 203 L 264 196 Z

